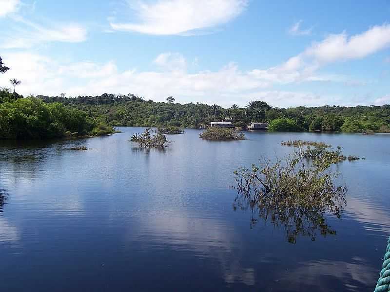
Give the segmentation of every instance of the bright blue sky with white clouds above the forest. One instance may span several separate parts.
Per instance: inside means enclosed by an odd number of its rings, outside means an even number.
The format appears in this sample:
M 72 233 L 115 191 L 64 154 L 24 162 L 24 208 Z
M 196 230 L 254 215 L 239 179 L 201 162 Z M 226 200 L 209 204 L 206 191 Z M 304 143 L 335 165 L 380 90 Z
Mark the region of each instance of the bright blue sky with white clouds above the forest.
M 390 104 L 390 1 L 0 0 L 23 95 Z

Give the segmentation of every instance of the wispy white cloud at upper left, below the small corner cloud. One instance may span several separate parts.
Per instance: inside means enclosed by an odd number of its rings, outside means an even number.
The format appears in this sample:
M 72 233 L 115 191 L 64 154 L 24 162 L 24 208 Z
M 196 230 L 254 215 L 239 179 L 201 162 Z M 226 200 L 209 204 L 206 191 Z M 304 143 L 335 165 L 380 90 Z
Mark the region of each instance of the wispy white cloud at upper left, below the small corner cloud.
M 24 25 L 24 28 L 9 32 L 3 37 L 0 48 L 30 48 L 53 41 L 82 42 L 87 36 L 87 30 L 78 24 L 54 25 L 54 28 L 49 29 L 21 17 L 13 19 Z

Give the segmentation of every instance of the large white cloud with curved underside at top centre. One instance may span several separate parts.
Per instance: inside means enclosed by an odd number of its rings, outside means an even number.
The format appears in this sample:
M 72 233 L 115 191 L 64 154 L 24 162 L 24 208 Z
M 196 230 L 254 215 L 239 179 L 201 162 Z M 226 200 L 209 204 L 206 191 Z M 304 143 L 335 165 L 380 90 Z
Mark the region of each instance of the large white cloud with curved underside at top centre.
M 237 17 L 248 0 L 158 0 L 154 4 L 139 1 L 132 8 L 138 23 L 114 23 L 115 30 L 150 35 L 178 35 L 208 29 Z

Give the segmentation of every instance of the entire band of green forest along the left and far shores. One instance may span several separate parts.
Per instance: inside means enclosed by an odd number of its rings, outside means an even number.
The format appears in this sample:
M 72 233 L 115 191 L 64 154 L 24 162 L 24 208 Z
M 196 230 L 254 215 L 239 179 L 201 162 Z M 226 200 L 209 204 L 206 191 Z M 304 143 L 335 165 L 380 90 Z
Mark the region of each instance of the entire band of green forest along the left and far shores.
M 390 132 L 390 105 L 340 107 L 272 107 L 251 101 L 225 109 L 202 103 L 144 100 L 134 94 L 100 96 L 28 96 L 0 89 L 0 139 L 45 139 L 104 135 L 115 126 L 204 128 L 211 121 L 230 120 L 245 129 L 250 122 L 268 122 L 271 131 Z

